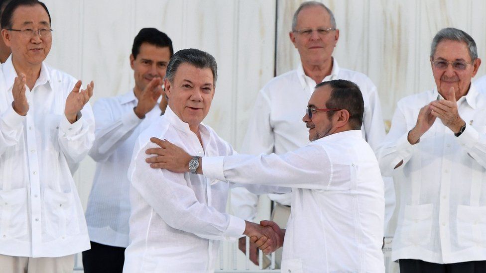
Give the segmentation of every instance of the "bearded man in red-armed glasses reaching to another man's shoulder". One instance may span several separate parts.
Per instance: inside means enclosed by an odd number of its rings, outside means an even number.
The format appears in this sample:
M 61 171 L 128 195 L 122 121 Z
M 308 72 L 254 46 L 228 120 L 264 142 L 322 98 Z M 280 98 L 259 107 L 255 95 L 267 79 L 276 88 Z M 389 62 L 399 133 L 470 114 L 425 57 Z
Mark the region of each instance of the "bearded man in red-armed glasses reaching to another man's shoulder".
M 282 272 L 384 272 L 383 181 L 362 137 L 364 103 L 346 80 L 316 86 L 303 121 L 311 143 L 282 155 L 203 157 L 198 174 L 218 181 L 292 187 L 287 230 L 271 226 L 283 244 Z M 147 159 L 152 168 L 188 172 L 192 156 L 174 144 Z

